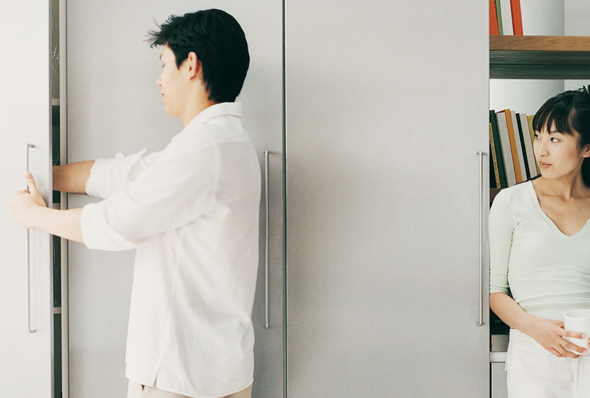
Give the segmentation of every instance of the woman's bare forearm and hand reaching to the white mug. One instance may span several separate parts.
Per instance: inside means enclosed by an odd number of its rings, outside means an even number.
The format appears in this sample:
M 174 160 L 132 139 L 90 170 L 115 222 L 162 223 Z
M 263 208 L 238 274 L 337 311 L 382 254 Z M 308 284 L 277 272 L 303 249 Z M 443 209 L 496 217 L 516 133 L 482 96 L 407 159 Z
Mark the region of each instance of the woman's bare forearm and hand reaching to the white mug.
M 569 332 L 563 329 L 563 322 L 559 320 L 535 318 L 526 314 L 524 309 L 505 293 L 491 293 L 489 295 L 489 307 L 506 325 L 532 337 L 556 357 L 578 358 L 580 356 L 570 350 L 578 353 L 587 352 L 588 347 L 578 347 L 563 338 L 584 339 L 582 333 Z

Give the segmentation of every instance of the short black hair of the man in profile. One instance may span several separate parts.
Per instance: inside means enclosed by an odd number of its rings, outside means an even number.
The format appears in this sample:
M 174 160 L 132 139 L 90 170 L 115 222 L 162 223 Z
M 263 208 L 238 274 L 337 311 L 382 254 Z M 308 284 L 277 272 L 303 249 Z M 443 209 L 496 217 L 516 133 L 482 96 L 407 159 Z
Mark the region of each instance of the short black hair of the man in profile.
M 203 81 L 209 99 L 216 103 L 233 102 L 242 90 L 250 54 L 244 31 L 238 21 L 222 10 L 201 10 L 182 17 L 171 15 L 148 32 L 150 47 L 167 45 L 180 67 L 194 52 L 203 67 Z

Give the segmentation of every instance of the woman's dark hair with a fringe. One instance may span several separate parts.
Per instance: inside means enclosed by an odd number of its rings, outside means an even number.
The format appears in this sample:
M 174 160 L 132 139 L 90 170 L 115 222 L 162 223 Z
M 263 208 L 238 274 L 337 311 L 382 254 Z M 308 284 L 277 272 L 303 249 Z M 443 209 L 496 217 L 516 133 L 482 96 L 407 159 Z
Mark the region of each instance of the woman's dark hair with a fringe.
M 533 129 L 547 130 L 555 125 L 562 134 L 578 133 L 580 149 L 590 145 L 590 94 L 584 91 L 565 91 L 549 98 L 533 117 Z M 584 184 L 590 186 L 590 158 L 582 163 Z

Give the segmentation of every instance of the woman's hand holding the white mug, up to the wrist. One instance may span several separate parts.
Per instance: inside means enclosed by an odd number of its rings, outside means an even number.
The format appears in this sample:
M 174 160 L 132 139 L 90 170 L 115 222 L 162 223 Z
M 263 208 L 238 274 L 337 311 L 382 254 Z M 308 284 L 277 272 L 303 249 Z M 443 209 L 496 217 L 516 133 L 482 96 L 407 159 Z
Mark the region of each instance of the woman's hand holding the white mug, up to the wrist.
M 563 322 L 559 320 L 533 318 L 521 332 L 528 334 L 556 357 L 578 358 L 580 355 L 572 351 L 577 353 L 587 353 L 588 351 L 588 347 L 579 347 L 564 339 L 564 337 L 585 339 L 586 336 L 582 333 L 563 329 Z

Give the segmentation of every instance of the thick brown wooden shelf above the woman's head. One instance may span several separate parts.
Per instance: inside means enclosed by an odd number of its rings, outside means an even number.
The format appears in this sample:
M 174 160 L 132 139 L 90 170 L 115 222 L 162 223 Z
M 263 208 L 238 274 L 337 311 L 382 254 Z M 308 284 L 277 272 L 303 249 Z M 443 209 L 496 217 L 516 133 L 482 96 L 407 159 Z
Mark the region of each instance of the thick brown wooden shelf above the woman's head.
M 590 37 L 489 36 L 490 79 L 590 79 Z

